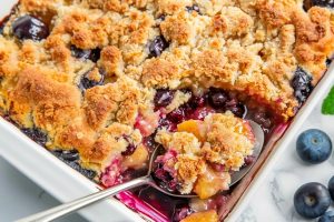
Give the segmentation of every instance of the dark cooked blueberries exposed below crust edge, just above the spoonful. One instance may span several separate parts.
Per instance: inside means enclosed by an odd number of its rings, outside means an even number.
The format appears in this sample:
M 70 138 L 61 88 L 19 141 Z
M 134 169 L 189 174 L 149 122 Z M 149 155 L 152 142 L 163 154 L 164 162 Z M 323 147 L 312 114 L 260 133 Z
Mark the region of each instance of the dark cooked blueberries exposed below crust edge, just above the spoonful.
M 273 117 L 265 108 L 248 108 L 238 101 L 237 98 L 227 93 L 223 89 L 209 88 L 208 91 L 202 95 L 196 95 L 189 89 L 183 89 L 184 93 L 190 94 L 187 103 L 169 112 L 166 117 L 160 118 L 159 129 L 166 128 L 169 131 L 176 130 L 176 125 L 183 121 L 204 120 L 209 113 L 224 113 L 226 111 L 233 112 L 238 118 L 247 118 L 254 120 L 262 125 L 265 133 L 268 133 L 274 124 Z M 175 90 L 159 89 L 157 90 L 154 104 L 155 110 L 168 107 L 175 98 Z

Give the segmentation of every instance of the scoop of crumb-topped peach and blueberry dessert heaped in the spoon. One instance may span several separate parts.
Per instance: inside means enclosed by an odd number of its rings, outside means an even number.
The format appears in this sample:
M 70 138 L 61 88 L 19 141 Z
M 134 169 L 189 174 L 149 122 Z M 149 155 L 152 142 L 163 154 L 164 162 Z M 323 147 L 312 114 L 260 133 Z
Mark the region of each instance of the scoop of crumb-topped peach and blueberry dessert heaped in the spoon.
M 157 159 L 157 178 L 165 186 L 207 199 L 229 189 L 230 172 L 238 171 L 252 155 L 255 139 L 246 120 L 226 112 L 184 121 L 176 132 L 161 129 L 156 142 L 167 151 Z

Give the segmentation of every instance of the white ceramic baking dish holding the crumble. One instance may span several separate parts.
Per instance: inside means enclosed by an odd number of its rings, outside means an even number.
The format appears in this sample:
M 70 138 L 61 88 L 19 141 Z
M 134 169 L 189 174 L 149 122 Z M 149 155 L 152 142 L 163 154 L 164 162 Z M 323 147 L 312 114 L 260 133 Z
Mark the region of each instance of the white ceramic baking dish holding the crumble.
M 16 0 L 0 0 L 0 18 L 10 12 Z M 278 157 L 287 149 L 293 137 L 310 115 L 313 108 L 334 82 L 333 65 L 315 88 L 306 104 L 291 122 L 284 134 L 274 134 L 274 149 L 264 164 L 255 173 L 252 183 L 243 191 L 236 205 L 225 221 L 236 221 L 253 193 L 272 170 Z M 282 137 L 278 141 L 275 137 Z M 275 143 L 275 144 L 274 144 Z M 18 170 L 38 183 L 60 201 L 70 201 L 99 190 L 99 186 L 72 170 L 47 150 L 28 139 L 19 129 L 0 118 L 0 154 Z M 6 180 L 6 179 L 3 179 Z M 135 213 L 115 199 L 100 202 L 80 211 L 89 221 L 144 221 L 143 215 Z

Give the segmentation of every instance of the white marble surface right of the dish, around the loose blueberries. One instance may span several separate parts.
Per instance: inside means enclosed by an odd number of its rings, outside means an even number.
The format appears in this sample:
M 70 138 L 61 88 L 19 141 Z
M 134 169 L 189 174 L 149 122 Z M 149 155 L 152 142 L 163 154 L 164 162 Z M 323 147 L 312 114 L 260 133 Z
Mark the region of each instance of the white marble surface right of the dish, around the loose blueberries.
M 321 104 L 322 101 L 304 123 L 301 132 L 312 128 L 321 129 L 327 132 L 334 142 L 334 115 L 322 115 Z M 254 201 L 248 204 L 237 222 L 312 221 L 302 219 L 294 211 L 294 193 L 307 182 L 321 182 L 327 185 L 328 180 L 334 175 L 334 155 L 332 153 L 328 161 L 317 165 L 305 164 L 296 154 L 296 138 L 297 135 L 275 163 L 275 168 L 255 193 Z

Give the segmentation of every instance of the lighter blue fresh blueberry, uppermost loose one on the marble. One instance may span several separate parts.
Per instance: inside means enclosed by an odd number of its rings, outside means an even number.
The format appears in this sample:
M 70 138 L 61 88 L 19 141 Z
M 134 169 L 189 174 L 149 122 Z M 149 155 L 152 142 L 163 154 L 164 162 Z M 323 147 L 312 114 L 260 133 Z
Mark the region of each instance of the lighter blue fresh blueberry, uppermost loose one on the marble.
M 296 150 L 302 160 L 316 164 L 330 158 L 332 141 L 325 132 L 311 129 L 298 137 Z

